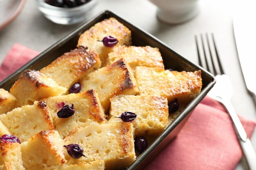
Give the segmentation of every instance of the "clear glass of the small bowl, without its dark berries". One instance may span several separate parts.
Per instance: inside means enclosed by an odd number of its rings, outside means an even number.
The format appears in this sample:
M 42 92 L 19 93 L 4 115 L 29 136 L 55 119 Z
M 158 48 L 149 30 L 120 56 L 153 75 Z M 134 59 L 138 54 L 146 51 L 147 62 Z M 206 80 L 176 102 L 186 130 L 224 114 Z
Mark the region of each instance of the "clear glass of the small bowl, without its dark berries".
M 54 7 L 44 2 L 36 0 L 38 9 L 46 18 L 57 24 L 70 25 L 85 21 L 97 4 L 97 0 L 90 0 L 86 4 L 73 8 Z

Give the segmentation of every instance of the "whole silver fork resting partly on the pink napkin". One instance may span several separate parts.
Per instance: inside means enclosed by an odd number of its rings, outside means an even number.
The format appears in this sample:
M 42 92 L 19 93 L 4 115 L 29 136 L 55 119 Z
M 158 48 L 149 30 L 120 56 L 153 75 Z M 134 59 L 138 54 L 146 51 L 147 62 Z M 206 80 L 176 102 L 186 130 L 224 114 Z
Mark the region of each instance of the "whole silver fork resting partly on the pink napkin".
M 234 129 L 236 131 L 238 141 L 240 143 L 240 146 L 243 150 L 243 154 L 247 161 L 248 168 L 250 170 L 256 170 L 256 153 L 254 151 L 251 141 L 247 137 L 245 129 L 243 128 L 243 126 L 242 126 L 240 120 L 238 119 L 238 116 L 236 115 L 236 112 L 231 104 L 233 88 L 232 88 L 231 82 L 229 80 L 229 77 L 224 74 L 213 34 L 211 34 L 210 38 L 209 38 L 208 34 L 206 34 L 205 37 L 206 37 L 206 41 L 203 38 L 202 34 L 200 35 L 200 38 L 198 38 L 198 36 L 195 35 L 195 42 L 196 42 L 197 51 L 198 51 L 199 65 L 202 66 L 203 65 L 202 61 L 204 60 L 207 71 L 210 72 L 210 70 L 213 70 L 213 74 L 215 75 L 215 78 L 216 78 L 216 84 L 213 86 L 211 91 L 209 91 L 208 96 L 217 100 L 218 102 L 223 104 L 223 106 L 225 106 L 227 112 L 229 113 L 229 115 L 231 117 L 231 120 L 233 121 Z M 202 44 L 204 59 L 202 59 L 202 57 L 200 55 L 200 47 L 199 47 L 199 43 L 198 43 L 199 40 L 201 40 L 201 42 L 202 42 L 201 44 Z M 210 43 L 210 42 L 212 42 L 212 43 Z M 213 47 L 213 48 L 211 48 L 211 47 Z M 207 53 L 207 50 L 209 53 Z M 214 56 L 215 56 L 216 60 L 214 60 Z M 210 58 L 211 62 L 209 62 L 209 58 Z M 216 64 L 214 64 L 214 63 L 217 63 L 218 67 L 216 67 Z M 212 69 L 210 69 L 210 66 Z M 219 70 L 218 70 L 218 68 L 219 68 Z

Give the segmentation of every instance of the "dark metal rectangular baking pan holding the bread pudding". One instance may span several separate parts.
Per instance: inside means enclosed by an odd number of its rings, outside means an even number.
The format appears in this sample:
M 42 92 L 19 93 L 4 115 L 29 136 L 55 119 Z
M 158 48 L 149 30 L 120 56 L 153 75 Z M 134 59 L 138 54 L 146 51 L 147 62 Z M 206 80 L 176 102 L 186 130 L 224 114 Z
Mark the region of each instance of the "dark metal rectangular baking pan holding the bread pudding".
M 132 163 L 127 170 L 138 170 L 143 169 L 148 163 L 149 159 L 155 157 L 180 131 L 182 126 L 185 124 L 189 117 L 189 113 L 197 106 L 200 101 L 207 95 L 208 91 L 213 87 L 216 80 L 213 75 L 204 70 L 202 67 L 197 66 L 184 57 L 173 51 L 166 44 L 153 37 L 152 35 L 146 33 L 145 31 L 139 29 L 138 27 L 130 24 L 126 20 L 120 18 L 118 15 L 111 11 L 102 11 L 94 18 L 79 26 L 79 28 L 72 31 L 70 34 L 50 46 L 48 49 L 40 53 L 37 57 L 29 61 L 27 64 L 18 69 L 15 73 L 0 82 L 0 88 L 9 90 L 14 82 L 20 76 L 20 73 L 25 69 L 40 70 L 46 65 L 50 64 L 57 57 L 61 56 L 63 53 L 76 48 L 79 36 L 85 30 L 90 29 L 91 26 L 100 22 L 106 18 L 114 17 L 119 22 L 128 27 L 132 32 L 132 44 L 135 46 L 152 46 L 157 47 L 162 54 L 164 60 L 165 69 L 172 68 L 176 71 L 202 71 L 202 91 L 200 94 L 191 101 L 191 103 L 176 117 L 176 119 L 171 122 L 171 124 L 164 130 L 164 132 L 153 141 L 153 143 L 148 146 L 148 148 Z

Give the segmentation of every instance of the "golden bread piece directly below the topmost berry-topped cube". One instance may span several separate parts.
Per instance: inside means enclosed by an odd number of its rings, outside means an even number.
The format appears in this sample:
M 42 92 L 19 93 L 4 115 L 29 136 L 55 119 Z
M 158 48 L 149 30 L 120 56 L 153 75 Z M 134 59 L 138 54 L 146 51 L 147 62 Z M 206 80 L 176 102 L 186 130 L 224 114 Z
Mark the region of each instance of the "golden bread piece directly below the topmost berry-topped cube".
M 147 66 L 164 70 L 159 49 L 150 46 L 117 46 L 108 54 L 105 64 L 108 66 L 120 58 L 124 58 L 132 69 L 137 66 Z

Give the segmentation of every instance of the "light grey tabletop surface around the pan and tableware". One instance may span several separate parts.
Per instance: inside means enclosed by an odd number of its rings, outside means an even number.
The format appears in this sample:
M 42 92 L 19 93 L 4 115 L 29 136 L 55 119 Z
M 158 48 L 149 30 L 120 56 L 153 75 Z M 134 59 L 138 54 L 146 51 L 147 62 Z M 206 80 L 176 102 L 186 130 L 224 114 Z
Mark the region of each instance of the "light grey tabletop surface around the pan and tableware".
M 233 84 L 232 104 L 237 113 L 256 121 L 256 105 L 245 87 L 236 52 L 232 2 L 201 0 L 200 13 L 193 20 L 173 26 L 159 22 L 155 16 L 156 7 L 147 0 L 99 0 L 93 14 L 104 9 L 114 11 L 195 63 L 198 60 L 194 35 L 213 32 L 225 72 Z M 0 62 L 14 43 L 42 52 L 77 26 L 79 24 L 62 26 L 52 23 L 40 13 L 34 0 L 27 0 L 25 8 L 16 20 L 0 31 Z M 255 134 L 252 137 L 252 144 L 256 148 Z M 247 169 L 244 162 L 242 159 L 236 170 Z

